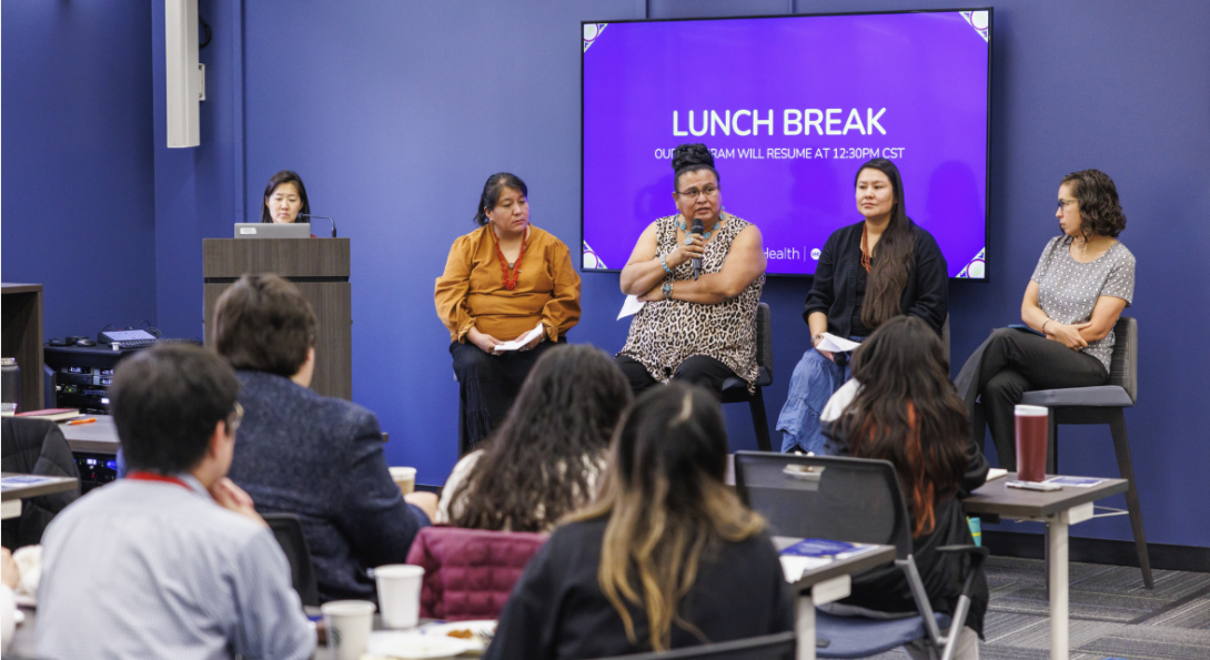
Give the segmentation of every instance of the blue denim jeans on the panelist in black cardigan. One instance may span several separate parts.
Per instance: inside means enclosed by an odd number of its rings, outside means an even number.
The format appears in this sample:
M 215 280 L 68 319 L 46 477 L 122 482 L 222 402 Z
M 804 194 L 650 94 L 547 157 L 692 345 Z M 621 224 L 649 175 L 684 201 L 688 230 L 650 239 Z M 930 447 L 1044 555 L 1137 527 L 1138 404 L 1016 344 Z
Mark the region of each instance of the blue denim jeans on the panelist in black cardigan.
M 864 337 L 851 337 L 862 341 Z M 790 392 L 777 417 L 777 430 L 782 432 L 782 451 L 823 453 L 824 434 L 819 425 L 819 413 L 828 399 L 852 377 L 848 365 L 823 357 L 814 348 L 807 349 L 790 376 Z

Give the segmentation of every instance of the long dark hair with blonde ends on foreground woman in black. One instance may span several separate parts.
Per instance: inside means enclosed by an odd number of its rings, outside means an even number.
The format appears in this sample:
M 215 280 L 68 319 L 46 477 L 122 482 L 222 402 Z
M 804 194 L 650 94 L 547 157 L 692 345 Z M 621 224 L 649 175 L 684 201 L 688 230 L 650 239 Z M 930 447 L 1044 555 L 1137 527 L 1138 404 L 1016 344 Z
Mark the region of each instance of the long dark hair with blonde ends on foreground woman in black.
M 643 642 L 656 650 L 668 648 L 673 625 L 707 641 L 678 614 L 702 554 L 765 527 L 724 485 L 725 428 L 716 395 L 701 387 L 647 390 L 613 435 L 600 494 L 572 517 L 609 516 L 598 580 L 634 644 L 628 606 L 646 612 L 651 638 Z

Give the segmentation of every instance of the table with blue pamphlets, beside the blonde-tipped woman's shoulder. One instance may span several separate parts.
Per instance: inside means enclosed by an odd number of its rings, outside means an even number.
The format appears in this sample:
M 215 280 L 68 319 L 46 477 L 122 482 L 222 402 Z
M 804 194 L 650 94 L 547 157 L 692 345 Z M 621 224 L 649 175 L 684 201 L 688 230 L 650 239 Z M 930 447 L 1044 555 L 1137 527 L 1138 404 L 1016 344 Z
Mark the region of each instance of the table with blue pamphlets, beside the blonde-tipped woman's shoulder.
M 784 550 L 802 539 L 773 537 L 773 545 Z M 816 660 L 816 606 L 836 602 L 852 594 L 852 577 L 895 561 L 893 545 L 875 545 L 855 556 L 836 558 L 802 573 L 790 589 L 794 600 L 794 633 L 799 638 L 797 660 Z

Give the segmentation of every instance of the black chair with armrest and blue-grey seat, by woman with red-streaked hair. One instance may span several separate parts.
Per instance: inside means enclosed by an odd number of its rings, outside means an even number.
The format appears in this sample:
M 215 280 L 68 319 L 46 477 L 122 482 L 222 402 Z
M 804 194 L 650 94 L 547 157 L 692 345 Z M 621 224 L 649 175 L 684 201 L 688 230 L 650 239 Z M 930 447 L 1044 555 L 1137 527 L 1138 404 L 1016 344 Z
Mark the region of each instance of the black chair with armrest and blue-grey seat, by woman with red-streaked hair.
M 736 492 L 768 520 L 777 535 L 874 543 L 895 548 L 918 614 L 868 619 L 816 613 L 817 638 L 828 645 L 820 658 L 865 658 L 916 639 L 927 639 L 949 660 L 970 609 L 970 587 L 986 548 L 947 545 L 943 552 L 967 552 L 970 563 L 953 616 L 934 614 L 912 558 L 911 519 L 894 465 L 887 461 L 736 452 Z M 947 627 L 945 635 L 941 627 Z

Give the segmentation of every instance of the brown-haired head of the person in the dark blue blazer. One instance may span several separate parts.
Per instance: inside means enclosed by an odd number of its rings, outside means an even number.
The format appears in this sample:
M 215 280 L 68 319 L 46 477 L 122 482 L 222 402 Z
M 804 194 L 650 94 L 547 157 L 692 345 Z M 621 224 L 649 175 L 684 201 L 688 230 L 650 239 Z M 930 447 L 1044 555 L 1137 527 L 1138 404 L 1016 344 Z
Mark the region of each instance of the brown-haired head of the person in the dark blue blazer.
M 241 277 L 214 308 L 214 348 L 235 369 L 294 376 L 315 346 L 315 330 L 311 303 L 273 273 Z

